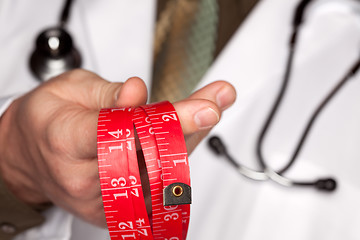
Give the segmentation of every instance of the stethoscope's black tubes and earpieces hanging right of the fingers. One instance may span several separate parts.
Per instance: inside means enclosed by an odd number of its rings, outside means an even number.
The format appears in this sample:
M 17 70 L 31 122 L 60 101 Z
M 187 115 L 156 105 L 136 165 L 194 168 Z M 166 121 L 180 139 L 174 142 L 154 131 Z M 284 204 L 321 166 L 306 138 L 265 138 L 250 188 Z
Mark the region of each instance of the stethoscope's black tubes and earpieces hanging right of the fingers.
M 321 191 L 327 191 L 332 192 L 336 189 L 337 182 L 334 178 L 320 178 L 313 181 L 296 181 L 293 179 L 290 179 L 288 177 L 284 176 L 284 173 L 290 169 L 290 167 L 294 164 L 294 162 L 297 159 L 297 156 L 299 155 L 306 138 L 321 111 L 324 109 L 324 107 L 329 103 L 329 101 L 339 92 L 339 90 L 345 85 L 345 83 L 351 78 L 353 75 L 356 74 L 356 72 L 359 70 L 360 67 L 360 58 L 353 64 L 353 66 L 350 68 L 350 70 L 344 75 L 344 77 L 333 87 L 333 89 L 328 93 L 328 95 L 322 100 L 322 102 L 316 107 L 315 111 L 311 115 L 310 119 L 308 120 L 305 129 L 303 130 L 300 139 L 298 140 L 298 143 L 295 147 L 295 150 L 290 156 L 290 159 L 288 163 L 279 170 L 272 169 L 265 161 L 262 147 L 264 143 L 264 138 L 269 130 L 269 127 L 271 123 L 273 122 L 273 118 L 276 115 L 279 106 L 282 102 L 282 99 L 285 95 L 288 83 L 290 81 L 291 76 L 291 69 L 292 69 L 292 62 L 295 55 L 295 50 L 297 46 L 297 37 L 299 34 L 300 27 L 303 23 L 303 16 L 305 13 L 306 8 L 309 6 L 309 4 L 313 2 L 313 0 L 302 0 L 293 16 L 293 22 L 292 22 L 292 34 L 290 37 L 289 42 L 289 53 L 288 53 L 288 59 L 286 63 L 286 69 L 285 74 L 283 77 L 283 81 L 280 87 L 280 90 L 278 92 L 278 95 L 276 96 L 276 99 L 271 107 L 270 113 L 267 116 L 264 125 L 261 128 L 261 131 L 259 133 L 257 142 L 256 142 L 256 157 L 257 161 L 260 165 L 261 170 L 256 171 L 253 169 L 250 169 L 242 164 L 240 164 L 238 161 L 236 161 L 227 151 L 224 143 L 222 140 L 217 137 L 213 136 L 209 138 L 209 146 L 216 154 L 224 156 L 228 162 L 235 167 L 238 172 L 252 180 L 256 181 L 265 181 L 265 180 L 272 180 L 282 186 L 286 187 L 292 187 L 292 186 L 305 186 L 305 187 L 314 187 L 317 190 Z

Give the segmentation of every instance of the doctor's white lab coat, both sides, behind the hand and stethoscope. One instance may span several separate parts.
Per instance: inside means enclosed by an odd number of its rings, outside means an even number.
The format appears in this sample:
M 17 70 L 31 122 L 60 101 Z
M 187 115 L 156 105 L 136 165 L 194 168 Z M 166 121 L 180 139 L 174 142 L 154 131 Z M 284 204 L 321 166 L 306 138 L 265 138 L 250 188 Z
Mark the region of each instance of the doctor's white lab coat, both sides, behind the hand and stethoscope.
M 62 2 L 0 1 L 2 96 L 36 86 L 27 70 L 31 44 L 39 29 L 56 23 Z M 264 154 L 275 169 L 289 159 L 309 114 L 359 55 L 360 7 L 344 2 L 319 0 L 307 11 L 289 90 L 265 139 Z M 253 168 L 258 167 L 255 140 L 284 74 L 296 3 L 260 2 L 199 84 L 224 79 L 236 87 L 235 105 L 212 134 L 224 139 L 237 161 Z M 149 84 L 154 11 L 154 1 L 149 0 L 77 1 L 69 29 L 84 67 L 111 81 L 138 75 Z M 334 176 L 335 193 L 250 181 L 203 141 L 190 157 L 193 204 L 188 239 L 360 239 L 359 92 L 357 74 L 324 109 L 286 173 L 298 180 Z M 58 208 L 45 214 L 43 226 L 16 240 L 107 238 L 105 230 Z

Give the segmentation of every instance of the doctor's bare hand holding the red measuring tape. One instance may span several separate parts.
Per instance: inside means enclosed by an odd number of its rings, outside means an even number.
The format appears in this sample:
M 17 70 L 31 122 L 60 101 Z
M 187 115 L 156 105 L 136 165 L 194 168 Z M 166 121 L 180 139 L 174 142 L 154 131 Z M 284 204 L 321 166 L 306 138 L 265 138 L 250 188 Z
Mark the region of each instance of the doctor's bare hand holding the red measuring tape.
M 84 70 L 62 74 L 14 101 L 0 119 L 0 176 L 28 204 L 52 202 L 105 226 L 97 167 L 96 128 L 101 108 L 145 104 L 139 78 L 109 83 Z M 235 91 L 215 82 L 174 104 L 191 152 Z

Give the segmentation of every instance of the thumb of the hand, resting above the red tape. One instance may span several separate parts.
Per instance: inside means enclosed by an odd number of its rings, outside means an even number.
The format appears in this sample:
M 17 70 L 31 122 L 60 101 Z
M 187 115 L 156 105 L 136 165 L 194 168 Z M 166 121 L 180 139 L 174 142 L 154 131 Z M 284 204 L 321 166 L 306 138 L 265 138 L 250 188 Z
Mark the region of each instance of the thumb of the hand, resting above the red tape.
M 59 75 L 44 87 L 62 99 L 94 110 L 138 106 L 147 99 L 146 85 L 138 77 L 129 78 L 125 83 L 109 82 L 81 69 Z

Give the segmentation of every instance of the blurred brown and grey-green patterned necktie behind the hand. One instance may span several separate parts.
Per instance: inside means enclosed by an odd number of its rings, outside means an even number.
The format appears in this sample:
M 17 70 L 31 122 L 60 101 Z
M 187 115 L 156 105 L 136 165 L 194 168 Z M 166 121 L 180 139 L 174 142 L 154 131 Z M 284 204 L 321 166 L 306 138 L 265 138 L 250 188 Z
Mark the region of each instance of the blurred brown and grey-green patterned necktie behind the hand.
M 211 65 L 217 0 L 171 0 L 157 22 L 151 102 L 187 97 Z

